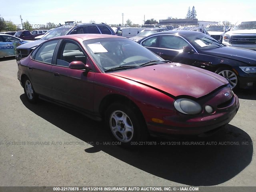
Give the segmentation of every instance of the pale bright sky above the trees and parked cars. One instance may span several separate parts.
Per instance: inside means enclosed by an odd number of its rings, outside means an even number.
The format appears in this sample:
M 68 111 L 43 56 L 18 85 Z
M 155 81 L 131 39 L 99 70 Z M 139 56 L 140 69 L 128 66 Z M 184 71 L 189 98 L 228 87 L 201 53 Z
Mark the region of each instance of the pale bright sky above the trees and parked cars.
M 10 3 L 15 6 L 11 8 Z M 2 0 L 0 15 L 14 24 L 21 23 L 20 15 L 33 25 L 63 24 L 70 20 L 122 24 L 124 13 L 124 24 L 127 19 L 142 24 L 144 15 L 145 20 L 154 18 L 158 22 L 168 16 L 185 18 L 189 6 L 195 6 L 198 20 L 228 20 L 232 24 L 238 20 L 256 20 L 256 0 Z

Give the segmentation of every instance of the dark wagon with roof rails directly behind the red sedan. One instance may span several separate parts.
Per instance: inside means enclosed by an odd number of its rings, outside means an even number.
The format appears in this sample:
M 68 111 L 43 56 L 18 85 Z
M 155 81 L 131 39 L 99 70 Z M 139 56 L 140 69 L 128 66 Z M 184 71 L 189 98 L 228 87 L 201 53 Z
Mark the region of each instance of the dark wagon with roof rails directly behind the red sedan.
M 51 30 L 49 33 L 45 34 L 40 40 L 36 40 L 34 42 L 30 42 L 26 44 L 26 46 L 19 46 L 17 50 L 19 51 L 19 56 L 16 58 L 20 60 L 24 58 L 32 52 L 36 46 L 41 44 L 42 42 L 62 36 L 62 35 L 69 35 L 69 34 L 112 34 L 116 35 L 113 29 L 104 23 L 78 23 L 78 24 L 64 24 L 58 26 L 57 28 Z

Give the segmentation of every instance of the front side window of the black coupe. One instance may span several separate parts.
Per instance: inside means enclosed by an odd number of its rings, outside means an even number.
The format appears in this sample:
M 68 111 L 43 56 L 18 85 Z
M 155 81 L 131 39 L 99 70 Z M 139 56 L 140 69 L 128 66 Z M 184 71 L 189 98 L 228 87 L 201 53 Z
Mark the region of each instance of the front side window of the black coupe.
M 162 35 L 159 39 L 159 48 L 180 50 L 184 46 L 188 46 L 188 42 L 179 36 Z

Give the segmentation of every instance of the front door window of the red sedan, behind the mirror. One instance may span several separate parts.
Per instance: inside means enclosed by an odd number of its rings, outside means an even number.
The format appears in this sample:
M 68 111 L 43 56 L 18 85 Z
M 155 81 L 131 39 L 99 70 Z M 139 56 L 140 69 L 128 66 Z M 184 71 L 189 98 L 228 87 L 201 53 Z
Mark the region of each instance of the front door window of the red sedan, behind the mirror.
M 72 61 L 82 61 L 86 64 L 86 56 L 78 44 L 65 40 L 57 57 L 57 65 L 68 67 Z

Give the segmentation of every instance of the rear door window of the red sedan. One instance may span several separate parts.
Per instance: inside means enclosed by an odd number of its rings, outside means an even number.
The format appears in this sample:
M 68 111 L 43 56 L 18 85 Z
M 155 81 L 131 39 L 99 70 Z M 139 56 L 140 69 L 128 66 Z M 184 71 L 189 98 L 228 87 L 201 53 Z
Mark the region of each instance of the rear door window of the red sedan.
M 45 63 L 52 63 L 52 57 L 54 50 L 58 44 L 59 40 L 54 40 L 50 42 L 44 43 L 36 52 L 35 60 L 45 62 Z

